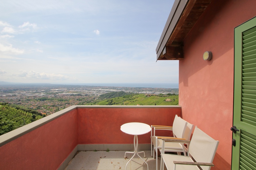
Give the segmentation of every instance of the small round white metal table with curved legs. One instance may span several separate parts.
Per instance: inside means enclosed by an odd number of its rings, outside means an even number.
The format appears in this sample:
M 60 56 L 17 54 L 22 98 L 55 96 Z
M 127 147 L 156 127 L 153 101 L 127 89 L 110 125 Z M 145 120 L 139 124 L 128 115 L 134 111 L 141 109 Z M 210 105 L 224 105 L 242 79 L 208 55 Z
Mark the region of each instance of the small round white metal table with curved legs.
M 151 131 L 151 127 L 148 125 L 148 124 L 145 124 L 145 123 L 139 123 L 139 122 L 131 122 L 131 123 L 125 123 L 121 126 L 121 130 L 124 132 L 124 133 L 127 133 L 129 135 L 134 135 L 134 139 L 133 139 L 133 144 L 134 144 L 134 152 L 125 152 L 124 154 L 124 158 L 126 158 L 126 153 L 134 153 L 134 155 L 132 156 L 132 158 L 135 156 L 135 154 L 137 154 L 139 157 L 139 153 L 144 153 L 144 157 L 146 157 L 145 155 L 145 152 L 142 151 L 142 152 L 138 152 L 138 135 L 143 135 L 143 134 L 146 134 L 148 132 Z M 137 140 L 137 142 L 135 142 Z M 128 165 L 128 163 L 132 160 L 132 158 L 127 162 L 126 166 L 125 166 L 125 170 L 126 170 L 126 167 Z M 140 157 L 140 159 L 142 159 Z M 148 163 L 142 159 L 148 166 Z

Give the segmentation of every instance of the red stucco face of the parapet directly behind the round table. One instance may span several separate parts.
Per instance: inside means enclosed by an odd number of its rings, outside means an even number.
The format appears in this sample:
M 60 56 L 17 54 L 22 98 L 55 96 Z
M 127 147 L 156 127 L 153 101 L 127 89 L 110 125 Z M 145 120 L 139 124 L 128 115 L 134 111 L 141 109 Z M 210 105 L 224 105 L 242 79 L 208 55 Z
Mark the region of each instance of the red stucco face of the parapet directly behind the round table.
M 122 124 L 172 126 L 175 115 L 181 116 L 180 108 L 78 108 L 78 144 L 133 144 L 133 136 L 120 130 Z M 150 143 L 150 132 L 138 140 Z

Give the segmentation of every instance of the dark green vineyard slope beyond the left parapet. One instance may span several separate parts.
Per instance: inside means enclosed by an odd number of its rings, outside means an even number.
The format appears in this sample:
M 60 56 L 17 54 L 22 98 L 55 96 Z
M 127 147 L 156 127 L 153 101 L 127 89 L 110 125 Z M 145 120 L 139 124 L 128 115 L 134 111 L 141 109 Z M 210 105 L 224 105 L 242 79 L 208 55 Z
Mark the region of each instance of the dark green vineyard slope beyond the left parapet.
M 28 110 L 34 113 L 33 110 Z M 36 115 L 32 113 L 24 111 L 23 108 L 17 109 L 15 107 L 11 107 L 7 103 L 0 103 L 0 135 L 3 135 L 43 117 L 42 115 Z

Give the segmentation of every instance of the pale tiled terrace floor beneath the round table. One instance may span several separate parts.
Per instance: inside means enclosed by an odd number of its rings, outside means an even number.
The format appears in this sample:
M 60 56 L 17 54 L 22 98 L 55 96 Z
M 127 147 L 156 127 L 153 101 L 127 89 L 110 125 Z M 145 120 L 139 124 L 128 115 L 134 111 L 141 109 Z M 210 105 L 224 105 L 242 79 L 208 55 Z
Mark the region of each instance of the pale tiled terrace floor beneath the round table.
M 126 163 L 133 156 L 133 154 L 127 153 L 127 158 L 124 158 L 125 152 L 127 151 L 80 151 L 69 162 L 65 170 L 125 169 Z M 151 156 L 151 151 L 144 152 L 146 154 L 146 158 L 143 157 L 143 153 L 140 153 L 140 156 L 148 163 L 149 170 L 155 170 L 156 159 L 153 159 L 153 157 Z M 144 162 L 136 155 L 127 165 L 127 170 L 147 170 L 147 164 L 143 163 Z M 160 157 L 158 157 L 158 169 L 160 169 Z

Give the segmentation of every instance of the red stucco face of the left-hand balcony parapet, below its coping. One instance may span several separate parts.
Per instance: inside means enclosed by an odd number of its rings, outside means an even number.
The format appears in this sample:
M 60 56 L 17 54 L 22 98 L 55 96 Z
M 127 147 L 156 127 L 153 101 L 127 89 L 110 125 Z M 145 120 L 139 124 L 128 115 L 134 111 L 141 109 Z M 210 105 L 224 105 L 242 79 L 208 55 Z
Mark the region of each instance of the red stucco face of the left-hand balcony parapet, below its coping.
M 77 145 L 77 110 L 0 147 L 0 169 L 57 169 Z

